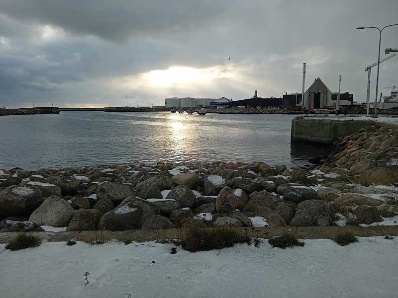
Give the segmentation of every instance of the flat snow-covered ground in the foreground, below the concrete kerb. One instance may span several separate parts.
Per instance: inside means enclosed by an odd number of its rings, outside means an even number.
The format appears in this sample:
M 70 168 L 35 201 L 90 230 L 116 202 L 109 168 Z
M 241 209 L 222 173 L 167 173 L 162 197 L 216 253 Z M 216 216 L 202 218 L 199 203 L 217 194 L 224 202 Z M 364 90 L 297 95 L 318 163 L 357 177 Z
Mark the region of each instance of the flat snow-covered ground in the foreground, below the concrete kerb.
M 398 241 L 359 238 L 339 246 L 305 240 L 272 248 L 268 241 L 191 253 L 151 242 L 99 246 L 44 242 L 0 245 L 1 298 L 363 298 L 397 297 Z M 88 284 L 84 274 L 88 272 Z

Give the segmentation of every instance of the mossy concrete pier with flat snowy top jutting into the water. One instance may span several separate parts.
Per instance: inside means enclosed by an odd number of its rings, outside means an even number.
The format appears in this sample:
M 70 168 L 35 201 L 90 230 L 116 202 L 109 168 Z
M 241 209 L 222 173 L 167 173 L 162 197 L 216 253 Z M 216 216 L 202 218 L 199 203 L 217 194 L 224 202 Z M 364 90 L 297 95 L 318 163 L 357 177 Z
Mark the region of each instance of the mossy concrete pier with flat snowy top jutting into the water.
M 329 117 L 328 117 L 329 118 Z M 398 118 L 394 121 L 383 121 L 378 118 L 317 118 L 317 117 L 296 117 L 292 120 L 291 138 L 294 141 L 302 141 L 316 144 L 332 144 L 335 141 L 342 141 L 344 137 L 358 132 L 361 128 L 369 125 L 380 125 L 398 129 Z M 379 119 L 381 121 L 379 121 Z

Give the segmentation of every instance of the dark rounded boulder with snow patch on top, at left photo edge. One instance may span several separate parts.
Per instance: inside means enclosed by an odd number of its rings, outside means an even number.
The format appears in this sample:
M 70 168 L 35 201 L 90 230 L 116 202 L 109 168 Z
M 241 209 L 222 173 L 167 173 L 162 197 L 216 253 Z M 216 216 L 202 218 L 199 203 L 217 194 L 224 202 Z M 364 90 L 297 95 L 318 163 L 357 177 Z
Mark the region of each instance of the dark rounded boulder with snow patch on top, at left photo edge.
M 9 186 L 0 192 L 0 220 L 9 216 L 30 216 L 44 202 L 33 186 Z

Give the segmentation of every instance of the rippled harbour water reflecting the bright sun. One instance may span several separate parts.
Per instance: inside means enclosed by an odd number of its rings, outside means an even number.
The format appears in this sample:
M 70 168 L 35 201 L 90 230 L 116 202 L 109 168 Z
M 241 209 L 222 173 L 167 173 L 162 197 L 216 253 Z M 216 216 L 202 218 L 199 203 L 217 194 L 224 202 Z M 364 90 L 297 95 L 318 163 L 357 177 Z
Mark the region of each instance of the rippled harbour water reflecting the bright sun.
M 0 168 L 263 161 L 308 165 L 324 147 L 291 142 L 293 115 L 62 111 L 0 117 Z

